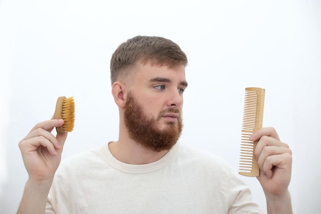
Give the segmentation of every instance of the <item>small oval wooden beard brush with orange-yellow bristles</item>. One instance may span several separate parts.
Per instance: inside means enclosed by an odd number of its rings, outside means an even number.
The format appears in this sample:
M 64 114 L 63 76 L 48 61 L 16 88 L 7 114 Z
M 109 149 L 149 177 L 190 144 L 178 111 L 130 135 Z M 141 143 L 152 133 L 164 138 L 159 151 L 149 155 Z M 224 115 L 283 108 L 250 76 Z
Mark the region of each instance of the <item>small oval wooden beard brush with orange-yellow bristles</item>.
M 75 103 L 73 96 L 59 96 L 56 102 L 55 119 L 64 119 L 64 125 L 56 127 L 57 133 L 70 132 L 75 122 Z

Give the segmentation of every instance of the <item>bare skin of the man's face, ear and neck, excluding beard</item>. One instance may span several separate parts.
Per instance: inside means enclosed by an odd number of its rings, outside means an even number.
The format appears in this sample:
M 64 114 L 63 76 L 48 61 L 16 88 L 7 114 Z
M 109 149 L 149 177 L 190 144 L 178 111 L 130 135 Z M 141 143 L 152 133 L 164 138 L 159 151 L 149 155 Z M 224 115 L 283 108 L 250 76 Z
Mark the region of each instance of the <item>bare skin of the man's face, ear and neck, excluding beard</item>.
M 175 74 L 175 75 L 173 75 Z M 119 107 L 119 139 L 109 144 L 111 153 L 116 159 L 128 164 L 146 164 L 157 161 L 168 151 L 155 152 L 137 146 L 129 138 L 124 124 L 124 106 L 129 91 L 135 94 L 138 103 L 144 107 L 146 115 L 157 117 L 166 108 L 177 108 L 182 112 L 183 92 L 187 87 L 185 67 L 168 69 L 166 66 L 151 66 L 138 64 L 132 70 L 132 75 L 124 77 L 112 86 L 115 103 Z M 177 122 L 176 118 L 166 116 L 159 120 L 158 128 L 164 129 L 168 122 Z

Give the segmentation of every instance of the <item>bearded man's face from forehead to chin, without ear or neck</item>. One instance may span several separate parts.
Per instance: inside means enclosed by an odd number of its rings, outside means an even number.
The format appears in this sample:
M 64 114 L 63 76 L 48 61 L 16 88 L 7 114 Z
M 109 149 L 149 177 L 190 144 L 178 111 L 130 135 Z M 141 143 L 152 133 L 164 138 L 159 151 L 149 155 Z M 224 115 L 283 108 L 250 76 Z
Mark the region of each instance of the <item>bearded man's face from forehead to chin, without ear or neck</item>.
M 129 136 L 145 148 L 168 150 L 182 132 L 185 68 L 139 65 L 135 72 L 124 107 Z

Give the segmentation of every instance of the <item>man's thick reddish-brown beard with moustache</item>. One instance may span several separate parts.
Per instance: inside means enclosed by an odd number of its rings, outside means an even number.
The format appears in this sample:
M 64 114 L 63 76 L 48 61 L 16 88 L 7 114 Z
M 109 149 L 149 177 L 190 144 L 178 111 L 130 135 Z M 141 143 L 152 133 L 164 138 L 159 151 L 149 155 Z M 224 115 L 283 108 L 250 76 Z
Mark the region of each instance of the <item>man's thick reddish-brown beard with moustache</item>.
M 138 145 L 159 152 L 171 149 L 178 141 L 183 129 L 179 109 L 168 108 L 159 112 L 157 118 L 148 118 L 131 92 L 128 93 L 124 109 L 124 121 L 129 137 Z M 157 125 L 166 113 L 178 113 L 177 122 L 167 122 L 166 127 L 160 130 Z

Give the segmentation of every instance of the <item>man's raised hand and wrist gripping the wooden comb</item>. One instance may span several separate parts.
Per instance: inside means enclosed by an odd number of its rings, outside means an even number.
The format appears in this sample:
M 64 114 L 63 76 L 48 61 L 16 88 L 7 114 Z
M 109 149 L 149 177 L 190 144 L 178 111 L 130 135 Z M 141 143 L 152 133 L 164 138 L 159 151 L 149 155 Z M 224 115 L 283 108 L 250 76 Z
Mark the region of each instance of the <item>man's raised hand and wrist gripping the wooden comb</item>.
M 293 213 L 288 186 L 291 180 L 292 151 L 279 140 L 273 127 L 253 133 L 250 140 L 258 140 L 255 156 L 260 168 L 257 180 L 261 184 L 268 213 Z

